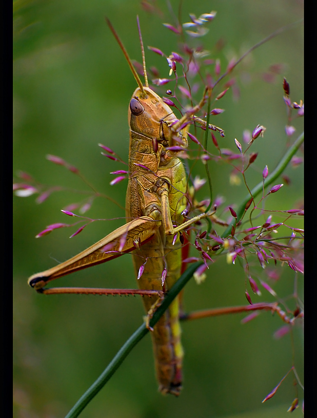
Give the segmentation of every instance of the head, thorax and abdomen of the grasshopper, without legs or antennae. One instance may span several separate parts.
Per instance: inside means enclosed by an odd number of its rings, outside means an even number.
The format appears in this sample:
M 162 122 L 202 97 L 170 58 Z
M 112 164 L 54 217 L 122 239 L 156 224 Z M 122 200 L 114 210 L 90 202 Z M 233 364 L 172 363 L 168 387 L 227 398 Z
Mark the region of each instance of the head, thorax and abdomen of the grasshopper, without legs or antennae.
M 169 106 L 151 89 L 145 87 L 144 92 L 140 88 L 135 90 L 128 115 L 131 176 L 127 189 L 126 216 L 127 221 L 149 216 L 160 223 L 153 238 L 141 249 L 133 251 L 136 275 L 144 265 L 144 271 L 138 280 L 140 289 L 162 290 L 164 271 L 165 290 L 171 288 L 180 277 L 182 244 L 179 237 L 172 242 L 173 236 L 167 235 L 169 222 L 165 221 L 171 219 L 175 225 L 183 223 L 181 214 L 186 207 L 187 181 L 183 163 L 175 156 L 174 151 L 165 149 L 173 144 L 172 137 L 176 134 L 173 134 L 168 123 L 175 120 Z M 176 140 L 176 144 L 187 146 L 181 133 L 177 134 Z M 162 202 L 162 192 L 165 195 L 168 192 L 168 202 L 165 204 Z M 146 311 L 150 311 L 153 298 L 144 296 L 143 302 Z M 163 393 L 179 395 L 183 348 L 180 340 L 178 299 L 172 302 L 151 335 L 159 389 Z

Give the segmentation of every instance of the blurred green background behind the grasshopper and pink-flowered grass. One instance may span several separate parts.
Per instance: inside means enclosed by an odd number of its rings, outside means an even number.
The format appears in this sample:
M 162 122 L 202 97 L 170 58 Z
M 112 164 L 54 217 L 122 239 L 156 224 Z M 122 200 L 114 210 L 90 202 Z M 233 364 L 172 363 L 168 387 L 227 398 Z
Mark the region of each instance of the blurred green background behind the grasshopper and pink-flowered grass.
M 141 61 L 137 14 L 145 46 L 155 46 L 168 55 L 179 50 L 175 35 L 162 22 L 173 23 L 173 19 L 165 2 L 156 4 L 162 16 L 149 14 L 140 2 L 127 0 L 14 2 L 14 173 L 24 170 L 44 184 L 88 190 L 78 177 L 45 159 L 46 154 L 57 155 L 80 168 L 98 191 L 124 206 L 126 182 L 109 185 L 113 179 L 109 173 L 124 166 L 101 156 L 97 143 L 113 148 L 127 160 L 127 107 L 135 81 L 104 16 L 110 18 L 132 59 Z M 179 2 L 171 4 L 177 14 Z M 224 49 L 210 57 L 220 58 L 224 69 L 227 58 L 239 57 L 274 30 L 299 20 L 303 2 L 223 0 L 194 5 L 184 1 L 182 21 L 189 21 L 190 12 L 198 16 L 211 10 L 217 11 L 217 15 L 202 41 L 207 49 L 212 49 L 220 38 L 225 41 Z M 147 49 L 145 52 L 147 66 L 156 66 L 161 77 L 168 77 L 166 61 Z M 276 63 L 285 64 L 283 73 L 276 77 L 275 83 L 264 82 L 263 72 Z M 259 151 L 255 169 L 248 173 L 253 186 L 261 181 L 265 164 L 272 171 L 285 151 L 287 115 L 282 98 L 283 77 L 290 83 L 291 100 L 303 99 L 302 25 L 255 50 L 247 64 L 248 67 L 242 63 L 236 72 L 242 74 L 238 79 L 240 101 L 233 101 L 231 92 L 227 93 L 217 106 L 226 111 L 212 123 L 226 132 L 221 146 L 232 149 L 233 138 L 243 143 L 244 129 L 252 131 L 257 124 L 267 128 L 265 137 L 259 138 L 252 149 Z M 251 81 L 247 82 L 243 71 L 250 71 Z M 297 129 L 294 137 L 300 134 L 301 124 L 301 120 L 294 122 Z M 229 167 L 210 163 L 210 170 L 214 194 L 225 196 L 226 204 L 239 203 L 246 190 L 243 185 L 229 184 Z M 285 174 L 291 183 L 270 197 L 267 208 L 288 210 L 300 201 L 302 168 L 289 167 Z M 60 210 L 82 198 L 80 194 L 60 192 L 41 205 L 35 204 L 34 196 L 14 198 L 14 416 L 17 418 L 64 416 L 142 322 L 143 306 L 137 297 L 44 297 L 27 287 L 31 274 L 52 267 L 55 260 L 68 259 L 123 224 L 123 219 L 95 222 L 71 240 L 68 237 L 75 228 L 34 239 L 48 224 L 71 223 L 73 218 Z M 87 216 L 123 218 L 124 211 L 99 198 Z M 300 222 L 296 225 L 301 227 Z M 244 283 L 239 263 L 228 265 L 220 258 L 210 268 L 205 283 L 188 284 L 186 309 L 244 305 Z M 292 293 L 293 284 L 294 272 L 285 267 L 275 290 L 285 297 Z M 133 288 L 131 257 L 127 255 L 74 277 L 65 277 L 56 286 Z M 299 291 L 302 292 L 302 277 Z M 274 300 L 264 292 L 262 297 L 253 295 L 252 299 Z M 147 336 L 81 416 L 288 416 L 286 410 L 295 397 L 292 375 L 271 400 L 265 404 L 261 401 L 291 367 L 290 335 L 280 340 L 273 338 L 273 332 L 283 325 L 276 315 L 263 312 L 242 325 L 240 320 L 244 316 L 183 323 L 184 389 L 179 398 L 163 397 L 157 392 L 151 341 Z M 302 377 L 299 328 L 294 329 L 294 350 L 295 364 Z M 301 408 L 292 414 L 301 415 Z

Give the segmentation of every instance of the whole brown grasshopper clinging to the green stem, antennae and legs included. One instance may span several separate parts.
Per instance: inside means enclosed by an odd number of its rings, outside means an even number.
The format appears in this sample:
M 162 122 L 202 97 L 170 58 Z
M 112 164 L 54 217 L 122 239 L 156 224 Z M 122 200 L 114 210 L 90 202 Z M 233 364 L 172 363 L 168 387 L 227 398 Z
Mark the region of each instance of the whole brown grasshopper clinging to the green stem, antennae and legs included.
M 126 195 L 127 223 L 80 254 L 32 275 L 28 283 L 43 294 L 140 294 L 143 296 L 149 327 L 149 319 L 160 305 L 164 293 L 181 274 L 182 238 L 179 232 L 200 219 L 212 216 L 212 213 L 205 212 L 185 221 L 183 213 L 187 205 L 187 178 L 184 165 L 177 157 L 187 147 L 189 124 L 195 119 L 194 113 L 206 103 L 208 89 L 205 89 L 203 99 L 197 106 L 177 119 L 171 108 L 148 86 L 140 25 L 145 85 L 109 20 L 107 23 L 138 85 L 128 107 L 130 176 Z M 201 119 L 198 122 L 204 123 Z M 213 128 L 223 134 L 222 129 Z M 51 280 L 129 252 L 132 252 L 138 290 L 46 288 Z M 179 314 L 180 301 L 176 298 L 151 329 L 159 390 L 175 396 L 182 389 L 184 355 Z

